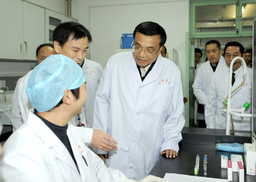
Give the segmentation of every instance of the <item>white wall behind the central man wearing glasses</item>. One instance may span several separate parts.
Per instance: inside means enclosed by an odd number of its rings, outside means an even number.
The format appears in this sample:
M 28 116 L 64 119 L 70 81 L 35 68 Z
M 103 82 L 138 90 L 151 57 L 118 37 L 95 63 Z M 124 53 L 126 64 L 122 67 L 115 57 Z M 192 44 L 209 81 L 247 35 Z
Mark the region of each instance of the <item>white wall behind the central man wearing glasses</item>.
M 177 50 L 183 94 L 185 96 L 185 32 L 189 30 L 189 0 L 77 0 L 72 1 L 72 17 L 87 27 L 93 38 L 89 59 L 105 67 L 120 48 L 123 33 L 133 33 L 141 22 L 159 23 L 167 34 L 166 47 Z

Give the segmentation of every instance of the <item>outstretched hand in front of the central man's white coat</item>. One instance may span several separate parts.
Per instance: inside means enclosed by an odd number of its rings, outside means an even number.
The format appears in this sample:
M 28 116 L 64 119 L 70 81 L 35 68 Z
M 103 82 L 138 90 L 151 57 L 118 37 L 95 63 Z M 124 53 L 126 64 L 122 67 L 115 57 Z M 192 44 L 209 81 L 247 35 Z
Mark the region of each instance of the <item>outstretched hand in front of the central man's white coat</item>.
M 113 138 L 110 137 L 105 131 L 102 130 L 93 130 L 92 146 L 100 148 L 109 152 L 109 150 L 114 150 L 117 148 L 115 144 L 118 144 Z

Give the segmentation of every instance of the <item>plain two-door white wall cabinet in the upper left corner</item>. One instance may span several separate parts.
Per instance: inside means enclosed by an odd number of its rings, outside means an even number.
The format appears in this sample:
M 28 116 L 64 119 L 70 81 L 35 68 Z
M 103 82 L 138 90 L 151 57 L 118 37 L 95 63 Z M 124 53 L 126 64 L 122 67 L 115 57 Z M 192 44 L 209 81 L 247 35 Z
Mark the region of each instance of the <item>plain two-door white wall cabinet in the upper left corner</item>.
M 45 42 L 44 9 L 20 0 L 0 1 L 0 59 L 35 60 Z

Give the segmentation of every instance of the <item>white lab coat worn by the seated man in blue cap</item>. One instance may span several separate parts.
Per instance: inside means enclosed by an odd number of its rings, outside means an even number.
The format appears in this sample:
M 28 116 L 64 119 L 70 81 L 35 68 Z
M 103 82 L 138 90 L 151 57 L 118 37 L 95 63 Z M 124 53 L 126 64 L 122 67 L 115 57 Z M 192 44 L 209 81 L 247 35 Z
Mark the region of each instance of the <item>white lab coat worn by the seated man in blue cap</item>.
M 77 166 L 67 148 L 34 113 L 3 146 L 4 181 L 124 181 L 122 172 L 106 168 L 84 144 L 84 128 L 68 126 L 67 135 Z M 86 159 L 86 166 L 84 159 Z

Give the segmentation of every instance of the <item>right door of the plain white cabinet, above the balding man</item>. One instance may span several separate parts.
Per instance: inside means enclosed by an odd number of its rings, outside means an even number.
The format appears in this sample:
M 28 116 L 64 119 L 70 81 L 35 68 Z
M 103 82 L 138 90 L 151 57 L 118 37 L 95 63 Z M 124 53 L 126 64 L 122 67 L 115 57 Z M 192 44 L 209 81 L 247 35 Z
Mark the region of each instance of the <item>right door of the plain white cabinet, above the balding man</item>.
M 45 43 L 44 9 L 23 2 L 24 60 L 36 60 L 36 48 Z

